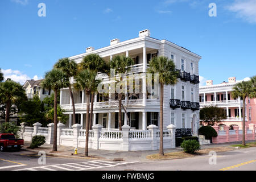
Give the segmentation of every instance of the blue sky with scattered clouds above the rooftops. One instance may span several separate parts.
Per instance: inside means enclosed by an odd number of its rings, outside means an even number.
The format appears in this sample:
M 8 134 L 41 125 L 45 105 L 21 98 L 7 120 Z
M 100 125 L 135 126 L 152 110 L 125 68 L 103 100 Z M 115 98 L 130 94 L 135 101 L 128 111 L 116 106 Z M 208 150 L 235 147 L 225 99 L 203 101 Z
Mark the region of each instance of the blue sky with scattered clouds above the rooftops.
M 216 17 L 208 15 L 212 2 Z M 46 17 L 38 16 L 39 3 Z M 61 57 L 136 38 L 146 28 L 202 56 L 201 85 L 256 75 L 256 0 L 1 0 L 0 26 L 0 68 L 22 84 L 44 77 Z

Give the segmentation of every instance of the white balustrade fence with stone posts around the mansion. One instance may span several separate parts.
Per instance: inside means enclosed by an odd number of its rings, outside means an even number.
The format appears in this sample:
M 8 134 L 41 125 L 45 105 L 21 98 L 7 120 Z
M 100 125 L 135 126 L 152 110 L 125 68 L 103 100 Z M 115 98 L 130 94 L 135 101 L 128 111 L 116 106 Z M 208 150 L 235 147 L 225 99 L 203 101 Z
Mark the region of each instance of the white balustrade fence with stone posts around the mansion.
M 46 137 L 46 143 L 53 143 L 54 124 L 48 127 L 41 127 L 40 123 L 35 123 L 34 127 L 27 127 L 21 123 L 20 138 L 31 142 L 35 135 Z M 122 126 L 122 130 L 102 129 L 103 126 L 93 126 L 89 130 L 88 146 L 93 149 L 138 151 L 138 150 L 158 150 L 160 131 L 157 126 L 150 125 L 148 130 L 134 130 L 130 126 Z M 65 129 L 65 125 L 57 125 L 57 145 L 85 147 L 86 130 L 81 129 L 81 125 L 76 124 L 72 129 Z M 175 148 L 175 126 L 169 125 L 163 131 L 164 148 Z

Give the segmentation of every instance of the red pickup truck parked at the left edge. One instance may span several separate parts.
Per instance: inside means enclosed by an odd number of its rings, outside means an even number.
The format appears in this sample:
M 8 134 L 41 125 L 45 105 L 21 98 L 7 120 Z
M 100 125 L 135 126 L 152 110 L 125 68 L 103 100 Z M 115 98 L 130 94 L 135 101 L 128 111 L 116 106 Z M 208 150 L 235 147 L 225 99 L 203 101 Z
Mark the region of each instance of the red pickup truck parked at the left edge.
M 6 148 L 16 148 L 20 150 L 20 146 L 24 144 L 23 139 L 15 139 L 14 134 L 0 134 L 0 151 L 5 151 Z

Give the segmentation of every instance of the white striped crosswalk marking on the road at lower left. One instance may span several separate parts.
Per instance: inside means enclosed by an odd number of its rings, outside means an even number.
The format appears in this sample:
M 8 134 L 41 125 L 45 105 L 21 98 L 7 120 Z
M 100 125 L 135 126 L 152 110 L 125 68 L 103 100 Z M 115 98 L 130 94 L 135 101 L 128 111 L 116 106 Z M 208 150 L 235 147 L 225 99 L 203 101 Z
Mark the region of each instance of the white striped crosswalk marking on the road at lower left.
M 92 164 L 92 163 L 97 163 Z M 88 170 L 88 169 L 97 169 L 97 168 L 106 168 L 106 167 L 115 167 L 123 164 L 131 164 L 131 163 L 137 163 L 137 162 L 114 162 L 113 164 L 106 164 L 106 163 L 112 163 L 104 160 L 95 160 L 95 161 L 88 161 L 88 162 L 80 162 L 80 163 L 67 163 L 67 164 L 53 164 L 50 166 L 38 166 L 38 167 L 32 167 L 32 168 L 23 168 L 23 169 L 16 169 L 15 171 L 23 171 L 23 170 L 30 170 L 30 171 L 38 171 L 40 168 L 46 169 L 46 170 L 53 170 L 51 167 L 63 169 L 65 171 L 82 171 L 82 170 Z M 87 165 L 86 165 L 87 164 Z M 67 166 L 62 167 L 62 166 Z M 80 166 L 80 167 L 77 167 Z

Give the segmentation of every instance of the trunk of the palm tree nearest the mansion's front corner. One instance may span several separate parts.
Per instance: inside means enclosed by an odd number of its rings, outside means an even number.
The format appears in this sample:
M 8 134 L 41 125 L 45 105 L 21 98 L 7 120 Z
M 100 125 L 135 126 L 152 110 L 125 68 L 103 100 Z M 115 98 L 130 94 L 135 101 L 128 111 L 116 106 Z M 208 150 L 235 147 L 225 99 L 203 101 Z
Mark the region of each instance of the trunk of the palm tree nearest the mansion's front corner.
M 163 83 L 160 83 L 160 146 L 159 154 L 164 155 L 163 151 Z

